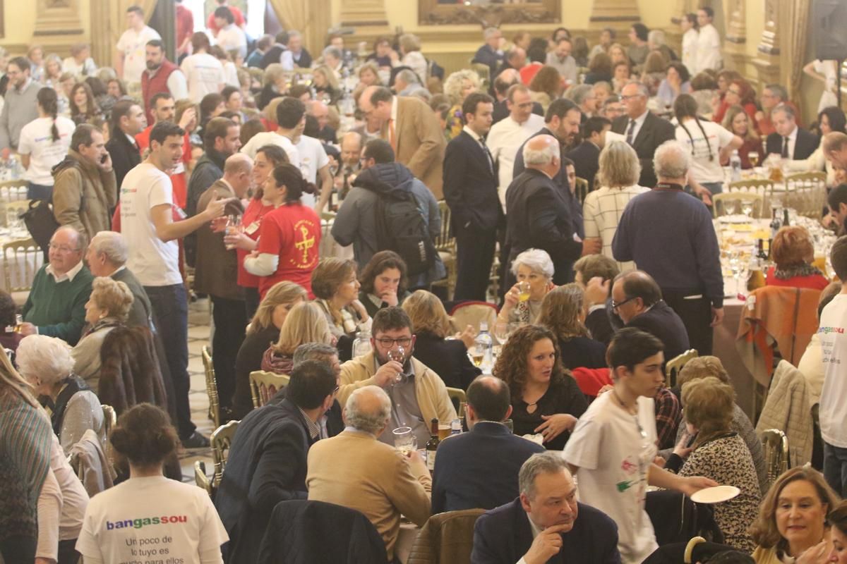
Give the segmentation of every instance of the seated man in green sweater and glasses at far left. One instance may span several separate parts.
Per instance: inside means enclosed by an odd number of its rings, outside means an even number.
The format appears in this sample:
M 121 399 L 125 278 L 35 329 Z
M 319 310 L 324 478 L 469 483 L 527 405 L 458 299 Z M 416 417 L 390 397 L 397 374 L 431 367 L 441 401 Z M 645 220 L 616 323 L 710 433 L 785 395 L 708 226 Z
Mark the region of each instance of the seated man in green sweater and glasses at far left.
M 80 340 L 94 279 L 82 263 L 86 243 L 86 236 L 69 225 L 53 233 L 49 262 L 36 273 L 24 304 L 21 335 L 58 337 L 72 346 Z

